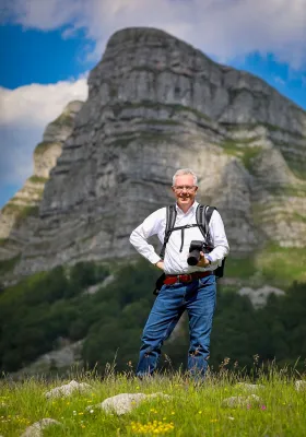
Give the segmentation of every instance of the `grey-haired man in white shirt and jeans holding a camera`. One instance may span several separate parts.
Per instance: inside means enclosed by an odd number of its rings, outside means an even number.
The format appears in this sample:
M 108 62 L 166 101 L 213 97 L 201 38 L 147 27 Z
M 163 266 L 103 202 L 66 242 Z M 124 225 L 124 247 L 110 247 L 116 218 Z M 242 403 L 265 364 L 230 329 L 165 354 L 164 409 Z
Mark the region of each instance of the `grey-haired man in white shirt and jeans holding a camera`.
M 176 172 L 173 177 L 173 192 L 176 197 L 175 227 L 196 224 L 198 202 L 197 176 L 189 168 Z M 166 227 L 166 208 L 162 208 L 138 226 L 130 236 L 130 243 L 150 262 L 166 274 L 142 334 L 142 345 L 137 367 L 137 376 L 150 376 L 154 373 L 161 355 L 163 342 L 170 335 L 185 310 L 188 312 L 190 346 L 188 369 L 191 375 L 203 377 L 210 353 L 210 334 L 215 308 L 215 275 L 213 270 L 221 265 L 228 253 L 228 243 L 221 215 L 213 211 L 209 232 L 213 246 L 210 253 L 200 252 L 200 261 L 189 265 L 187 258 L 191 240 L 202 240 L 198 226 L 173 231 L 166 245 L 164 260 L 146 241 L 157 235 L 164 241 Z

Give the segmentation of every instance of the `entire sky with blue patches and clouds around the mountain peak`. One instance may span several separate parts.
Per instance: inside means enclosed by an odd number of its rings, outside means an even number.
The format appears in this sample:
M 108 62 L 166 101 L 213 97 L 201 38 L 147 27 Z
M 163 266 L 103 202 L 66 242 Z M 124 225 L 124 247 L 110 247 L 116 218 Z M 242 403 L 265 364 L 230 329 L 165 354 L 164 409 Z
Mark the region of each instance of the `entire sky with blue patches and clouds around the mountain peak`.
M 86 98 L 86 74 L 119 28 L 163 28 L 306 109 L 306 0 L 2 1 L 0 208 L 33 173 L 46 125 Z

